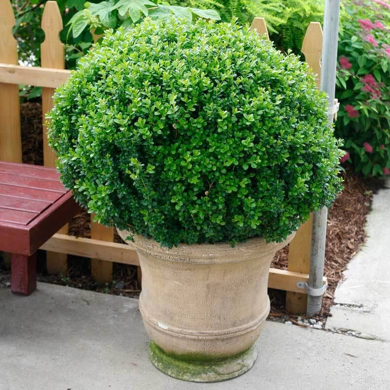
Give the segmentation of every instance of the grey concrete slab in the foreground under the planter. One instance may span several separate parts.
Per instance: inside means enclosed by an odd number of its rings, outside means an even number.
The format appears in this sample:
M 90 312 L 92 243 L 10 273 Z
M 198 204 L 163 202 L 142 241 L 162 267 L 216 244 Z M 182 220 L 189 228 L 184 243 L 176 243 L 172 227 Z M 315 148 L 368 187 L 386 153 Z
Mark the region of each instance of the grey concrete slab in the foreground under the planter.
M 148 361 L 138 301 L 39 283 L 0 288 L 0 390 L 388 390 L 390 344 L 267 322 L 254 368 L 182 382 Z

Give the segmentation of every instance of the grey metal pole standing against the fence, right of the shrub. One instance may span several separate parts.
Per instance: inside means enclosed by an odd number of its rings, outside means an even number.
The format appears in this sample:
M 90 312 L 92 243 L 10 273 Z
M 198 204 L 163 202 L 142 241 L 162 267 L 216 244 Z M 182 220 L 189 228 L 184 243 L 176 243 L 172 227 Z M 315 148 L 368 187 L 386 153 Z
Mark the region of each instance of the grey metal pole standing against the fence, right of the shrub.
M 338 23 L 340 0 L 325 0 L 324 34 L 322 42 L 321 91 L 328 94 L 329 126 L 333 124 L 334 90 L 336 85 Z M 326 207 L 313 213 L 312 249 L 310 255 L 309 291 L 320 289 L 324 276 L 325 242 L 328 209 Z M 309 294 L 307 314 L 313 315 L 321 310 L 322 295 Z

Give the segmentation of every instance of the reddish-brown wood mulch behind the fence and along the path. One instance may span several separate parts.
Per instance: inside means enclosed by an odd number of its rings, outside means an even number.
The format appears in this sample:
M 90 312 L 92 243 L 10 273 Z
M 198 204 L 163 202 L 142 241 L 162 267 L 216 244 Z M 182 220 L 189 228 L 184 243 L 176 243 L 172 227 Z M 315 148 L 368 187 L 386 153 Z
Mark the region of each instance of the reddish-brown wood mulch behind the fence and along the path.
M 21 131 L 23 162 L 43 164 L 42 153 L 42 116 L 39 102 L 27 102 L 21 105 Z M 327 318 L 333 301 L 337 283 L 343 278 L 350 259 L 356 254 L 365 241 L 364 226 L 370 211 L 373 192 L 380 187 L 380 182 L 364 179 L 354 173 L 351 167 L 343 173 L 344 191 L 339 195 L 328 214 L 328 230 L 326 243 L 325 275 L 328 278 L 321 313 L 316 317 L 323 321 Z M 69 234 L 90 237 L 90 215 L 82 212 L 72 219 L 69 224 Z M 116 234 L 116 242 L 123 242 Z M 272 266 L 287 269 L 288 247 L 279 251 Z M 39 280 L 86 290 L 106 292 L 123 296 L 136 297 L 139 293 L 137 286 L 136 267 L 114 263 L 114 282 L 100 285 L 92 280 L 89 259 L 69 256 L 67 275 L 48 275 L 45 273 L 44 252 L 39 254 Z M 7 271 L 4 267 L 0 278 L 4 280 Z M 284 307 L 285 292 L 270 290 L 271 315 L 278 318 L 289 317 L 294 321 L 295 316 L 289 315 Z

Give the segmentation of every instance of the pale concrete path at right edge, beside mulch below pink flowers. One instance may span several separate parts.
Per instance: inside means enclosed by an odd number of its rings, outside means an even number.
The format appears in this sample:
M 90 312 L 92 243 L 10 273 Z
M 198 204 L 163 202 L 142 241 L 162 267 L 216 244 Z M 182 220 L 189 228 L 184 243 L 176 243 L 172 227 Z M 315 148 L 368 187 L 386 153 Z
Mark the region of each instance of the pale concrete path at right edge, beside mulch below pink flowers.
M 386 187 L 373 197 L 367 241 L 337 287 L 326 327 L 390 341 L 390 180 Z

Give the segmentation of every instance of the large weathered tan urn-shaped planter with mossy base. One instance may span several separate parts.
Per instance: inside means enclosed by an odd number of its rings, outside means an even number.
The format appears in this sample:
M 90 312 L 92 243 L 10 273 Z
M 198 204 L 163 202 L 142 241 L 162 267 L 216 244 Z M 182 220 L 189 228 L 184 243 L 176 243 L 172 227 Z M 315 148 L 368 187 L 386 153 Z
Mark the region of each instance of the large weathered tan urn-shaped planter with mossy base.
M 129 232 L 118 231 L 126 240 Z M 142 270 L 139 309 L 152 339 L 150 359 L 161 371 L 195 382 L 217 382 L 249 370 L 270 312 L 268 274 L 281 243 L 161 247 L 135 235 Z

